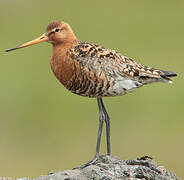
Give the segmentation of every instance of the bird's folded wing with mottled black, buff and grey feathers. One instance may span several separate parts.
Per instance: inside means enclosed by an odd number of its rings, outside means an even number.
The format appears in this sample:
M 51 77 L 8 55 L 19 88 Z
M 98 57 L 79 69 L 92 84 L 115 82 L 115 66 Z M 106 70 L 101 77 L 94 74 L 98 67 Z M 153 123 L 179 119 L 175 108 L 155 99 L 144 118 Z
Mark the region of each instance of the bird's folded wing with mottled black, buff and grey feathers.
M 162 78 L 162 71 L 136 63 L 120 53 L 96 44 L 80 42 L 70 49 L 71 57 L 96 71 L 102 68 L 109 75 L 132 79 Z M 164 74 L 164 73 L 163 73 Z

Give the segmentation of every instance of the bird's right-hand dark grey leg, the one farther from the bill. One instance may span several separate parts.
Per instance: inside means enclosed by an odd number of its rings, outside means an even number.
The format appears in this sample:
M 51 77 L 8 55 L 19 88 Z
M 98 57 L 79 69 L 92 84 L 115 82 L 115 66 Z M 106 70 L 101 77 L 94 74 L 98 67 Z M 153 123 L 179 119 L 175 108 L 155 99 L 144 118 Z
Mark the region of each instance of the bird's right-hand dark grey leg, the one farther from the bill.
M 100 104 L 103 109 L 103 114 L 105 116 L 105 123 L 106 123 L 106 138 L 107 138 L 107 155 L 111 155 L 111 144 L 110 144 L 110 117 L 106 111 L 102 98 L 99 98 Z

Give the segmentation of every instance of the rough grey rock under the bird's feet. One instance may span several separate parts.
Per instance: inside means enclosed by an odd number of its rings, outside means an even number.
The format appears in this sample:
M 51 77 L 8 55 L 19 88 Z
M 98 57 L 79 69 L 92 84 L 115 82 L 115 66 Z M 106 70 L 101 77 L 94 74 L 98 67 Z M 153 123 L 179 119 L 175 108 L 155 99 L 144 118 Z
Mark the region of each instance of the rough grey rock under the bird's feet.
M 0 178 L 0 180 L 13 180 Z M 152 158 L 144 156 L 132 160 L 101 155 L 93 165 L 83 169 L 51 172 L 37 178 L 18 178 L 16 180 L 179 180 L 175 174 L 163 166 L 157 166 Z

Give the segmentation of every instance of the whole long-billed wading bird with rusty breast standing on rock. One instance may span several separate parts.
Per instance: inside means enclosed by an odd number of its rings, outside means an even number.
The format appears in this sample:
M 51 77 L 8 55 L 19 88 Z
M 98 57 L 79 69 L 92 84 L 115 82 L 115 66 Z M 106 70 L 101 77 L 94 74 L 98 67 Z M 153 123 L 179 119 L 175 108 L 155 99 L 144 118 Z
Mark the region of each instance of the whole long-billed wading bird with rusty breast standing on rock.
M 171 83 L 171 77 L 177 75 L 171 71 L 143 66 L 114 50 L 81 42 L 63 21 L 52 22 L 39 38 L 6 52 L 40 42 L 53 45 L 51 69 L 68 90 L 81 96 L 97 98 L 100 114 L 96 154 L 92 161 L 80 167 L 86 167 L 98 159 L 103 122 L 106 123 L 107 154 L 111 155 L 110 118 L 102 97 L 124 95 L 152 82 Z

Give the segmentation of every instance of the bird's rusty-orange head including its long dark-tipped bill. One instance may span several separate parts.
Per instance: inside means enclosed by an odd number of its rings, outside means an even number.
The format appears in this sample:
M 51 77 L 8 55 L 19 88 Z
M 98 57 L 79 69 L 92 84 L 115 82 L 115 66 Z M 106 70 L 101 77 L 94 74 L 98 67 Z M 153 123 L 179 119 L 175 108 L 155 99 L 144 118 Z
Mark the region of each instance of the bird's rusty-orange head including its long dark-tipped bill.
M 40 37 L 32 41 L 26 42 L 20 46 L 7 49 L 6 52 L 28 47 L 33 44 L 38 44 L 41 42 L 49 42 L 53 45 L 57 45 L 63 43 L 72 43 L 75 40 L 76 37 L 72 32 L 71 27 L 67 23 L 65 23 L 64 21 L 54 21 L 47 26 L 46 32 L 42 34 Z

